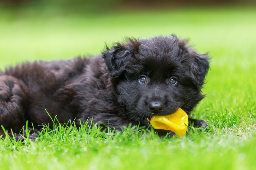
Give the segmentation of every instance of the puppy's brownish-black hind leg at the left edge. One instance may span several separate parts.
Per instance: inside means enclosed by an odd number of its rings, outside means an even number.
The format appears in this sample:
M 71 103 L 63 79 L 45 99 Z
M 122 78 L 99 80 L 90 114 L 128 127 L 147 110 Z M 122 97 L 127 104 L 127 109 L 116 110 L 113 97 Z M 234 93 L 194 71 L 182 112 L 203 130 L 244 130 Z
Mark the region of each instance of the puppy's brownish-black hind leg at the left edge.
M 0 76 L 0 126 L 10 133 L 12 129 L 16 140 L 23 125 L 25 125 L 26 95 L 21 83 L 12 76 Z M 5 136 L 0 128 L 0 135 Z

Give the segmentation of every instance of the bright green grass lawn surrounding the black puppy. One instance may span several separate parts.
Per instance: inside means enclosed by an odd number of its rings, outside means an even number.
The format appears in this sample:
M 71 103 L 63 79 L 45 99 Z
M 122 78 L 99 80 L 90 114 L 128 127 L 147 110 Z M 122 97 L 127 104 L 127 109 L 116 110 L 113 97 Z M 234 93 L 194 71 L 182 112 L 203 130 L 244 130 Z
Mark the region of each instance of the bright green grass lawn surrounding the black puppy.
M 35 12 L 35 11 L 34 11 Z M 98 54 L 126 36 L 175 33 L 212 57 L 192 116 L 208 131 L 160 139 L 136 128 L 45 127 L 36 141 L 0 140 L 0 169 L 256 169 L 255 8 L 116 11 L 0 10 L 0 68 L 26 60 Z

